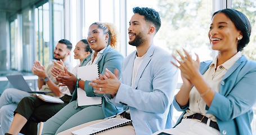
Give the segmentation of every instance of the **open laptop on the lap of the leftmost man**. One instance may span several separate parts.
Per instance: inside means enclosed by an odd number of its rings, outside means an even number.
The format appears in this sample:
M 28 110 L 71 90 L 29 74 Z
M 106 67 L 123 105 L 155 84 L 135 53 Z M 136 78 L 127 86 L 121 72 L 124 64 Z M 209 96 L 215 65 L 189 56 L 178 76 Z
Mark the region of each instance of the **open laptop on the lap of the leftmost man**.
M 25 92 L 29 93 L 47 93 L 50 91 L 32 91 L 32 89 L 29 87 L 28 83 L 26 83 L 26 80 L 24 79 L 23 75 L 17 74 L 17 75 L 6 75 L 6 78 L 9 80 L 9 82 L 12 84 L 12 87 L 16 89 L 20 89 Z

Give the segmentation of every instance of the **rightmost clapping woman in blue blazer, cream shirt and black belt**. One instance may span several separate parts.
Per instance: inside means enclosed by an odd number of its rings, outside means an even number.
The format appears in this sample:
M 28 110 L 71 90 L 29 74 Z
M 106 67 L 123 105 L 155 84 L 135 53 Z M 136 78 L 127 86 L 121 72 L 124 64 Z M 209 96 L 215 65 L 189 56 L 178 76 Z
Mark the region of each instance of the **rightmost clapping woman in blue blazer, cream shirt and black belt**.
M 193 60 L 185 51 L 178 61 L 183 85 L 174 107 L 184 111 L 171 134 L 252 134 L 252 107 L 256 102 L 256 63 L 240 51 L 249 43 L 251 26 L 236 10 L 213 14 L 209 39 L 218 51 L 214 61 Z M 159 132 L 158 132 L 159 133 Z

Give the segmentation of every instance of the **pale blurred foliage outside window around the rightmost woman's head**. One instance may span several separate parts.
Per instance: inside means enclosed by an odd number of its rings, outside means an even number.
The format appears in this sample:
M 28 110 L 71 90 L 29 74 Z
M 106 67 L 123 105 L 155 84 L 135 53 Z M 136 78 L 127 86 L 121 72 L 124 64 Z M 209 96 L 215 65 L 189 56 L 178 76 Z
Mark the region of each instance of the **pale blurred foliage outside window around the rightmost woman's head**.
M 212 1 L 208 0 L 159 0 L 158 8 L 162 19 L 160 39 L 165 40 L 167 48 L 172 53 L 181 48 L 191 51 L 194 48 L 207 46 L 210 49 L 208 31 L 213 13 L 212 7 Z M 255 0 L 233 0 L 232 8 L 243 12 L 250 20 L 252 30 L 256 30 Z M 252 31 L 250 43 L 242 51 L 242 54 L 250 60 L 256 60 L 255 43 L 256 33 Z

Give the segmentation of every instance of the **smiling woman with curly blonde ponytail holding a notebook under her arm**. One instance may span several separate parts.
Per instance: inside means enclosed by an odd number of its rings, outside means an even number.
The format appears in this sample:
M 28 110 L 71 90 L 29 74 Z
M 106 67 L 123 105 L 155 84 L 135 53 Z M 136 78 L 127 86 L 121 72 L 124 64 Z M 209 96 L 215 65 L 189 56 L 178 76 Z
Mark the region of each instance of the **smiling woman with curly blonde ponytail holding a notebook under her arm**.
M 111 48 L 115 47 L 117 43 L 114 28 L 112 24 L 101 22 L 95 22 L 89 27 L 87 40 L 94 52 L 83 60 L 82 66 L 98 64 L 100 74 L 104 74 L 106 68 L 112 72 L 114 72 L 114 69 L 120 71 L 123 56 Z M 77 125 L 104 119 L 122 111 L 122 108 L 115 107 L 107 102 L 104 95 L 94 93 L 95 89 L 88 85 L 91 81 L 80 80 L 71 73 L 63 74 L 63 71 L 62 75 L 64 76 L 58 76 L 56 79 L 68 86 L 70 91 L 73 92 L 72 100 L 44 123 L 42 134 L 57 134 Z M 77 87 L 84 89 L 88 97 L 102 97 L 102 104 L 78 106 Z

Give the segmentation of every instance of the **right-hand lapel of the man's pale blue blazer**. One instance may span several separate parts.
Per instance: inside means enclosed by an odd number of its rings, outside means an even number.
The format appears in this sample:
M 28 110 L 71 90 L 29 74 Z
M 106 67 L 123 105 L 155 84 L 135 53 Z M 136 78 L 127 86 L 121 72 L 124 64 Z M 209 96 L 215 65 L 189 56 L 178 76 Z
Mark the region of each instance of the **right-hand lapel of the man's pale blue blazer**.
M 139 80 L 141 78 L 141 75 L 142 75 L 143 71 L 145 70 L 145 68 L 147 67 L 147 65 L 149 64 L 149 62 L 150 62 L 150 60 L 152 58 L 152 55 L 153 55 L 154 50 L 155 50 L 155 47 L 156 46 L 154 44 L 151 44 L 151 46 L 149 47 L 149 50 L 147 50 L 147 52 L 145 54 L 145 57 L 144 57 L 144 59 L 143 59 L 143 61 L 141 63 L 141 66 L 138 69 L 138 73 L 137 73 L 137 76 L 136 76 L 133 88 L 136 89 L 138 87 L 138 82 L 139 82 Z

